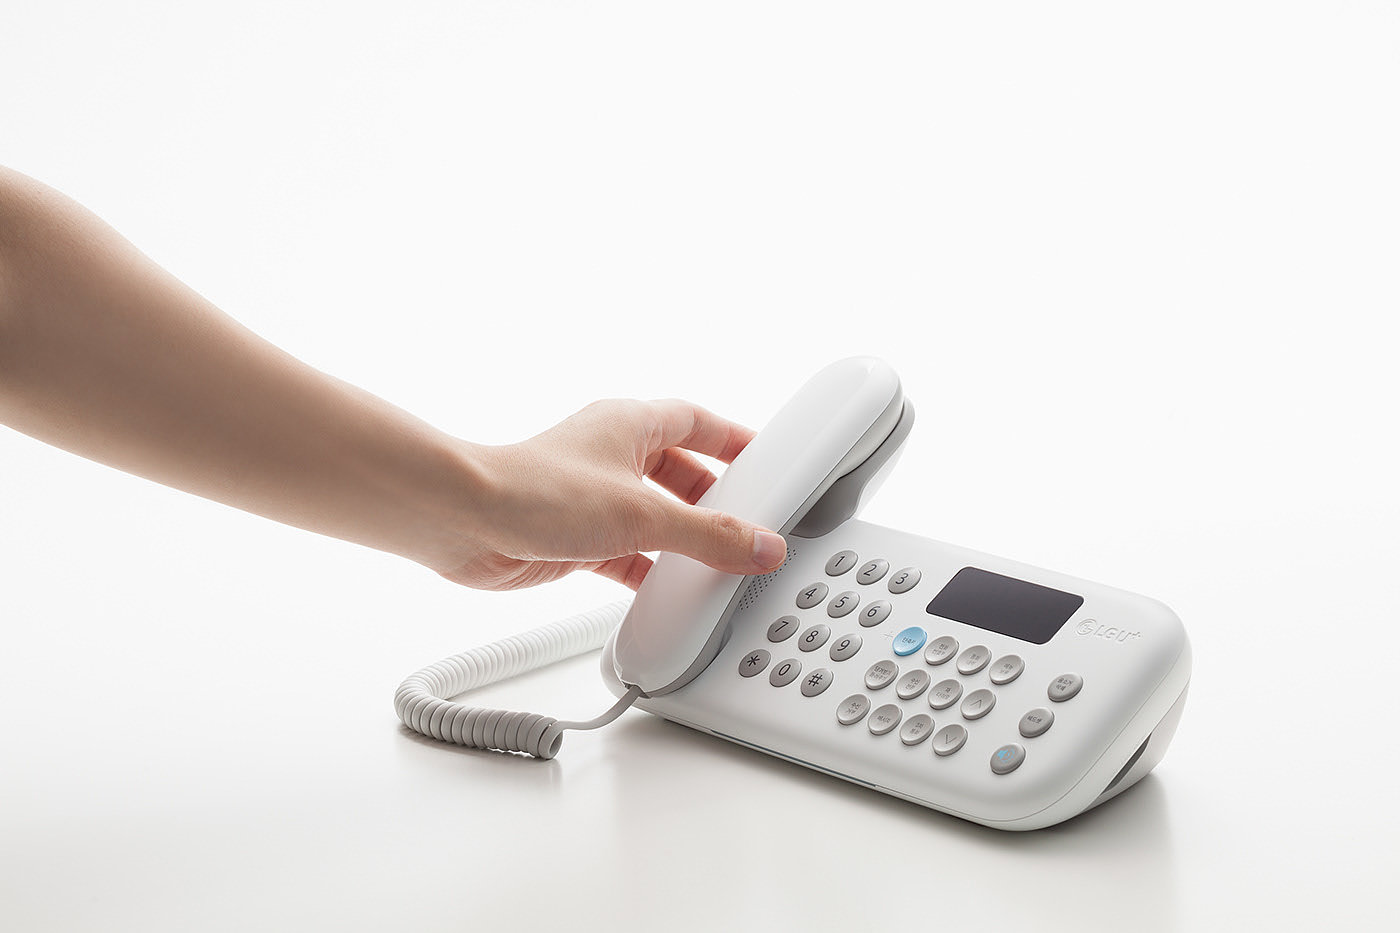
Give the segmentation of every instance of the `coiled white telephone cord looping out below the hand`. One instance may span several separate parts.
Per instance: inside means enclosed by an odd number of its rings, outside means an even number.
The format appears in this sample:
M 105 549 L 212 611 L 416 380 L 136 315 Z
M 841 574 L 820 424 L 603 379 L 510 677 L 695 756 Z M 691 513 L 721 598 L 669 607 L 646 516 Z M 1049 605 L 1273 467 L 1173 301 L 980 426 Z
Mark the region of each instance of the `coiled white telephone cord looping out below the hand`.
M 630 688 L 606 713 L 582 723 L 539 713 L 466 706 L 452 702 L 452 698 L 601 649 L 629 605 L 631 600 L 609 602 L 430 664 L 399 685 L 393 695 L 393 712 L 413 731 L 444 742 L 553 758 L 564 741 L 564 730 L 606 726 L 622 716 L 641 691 Z

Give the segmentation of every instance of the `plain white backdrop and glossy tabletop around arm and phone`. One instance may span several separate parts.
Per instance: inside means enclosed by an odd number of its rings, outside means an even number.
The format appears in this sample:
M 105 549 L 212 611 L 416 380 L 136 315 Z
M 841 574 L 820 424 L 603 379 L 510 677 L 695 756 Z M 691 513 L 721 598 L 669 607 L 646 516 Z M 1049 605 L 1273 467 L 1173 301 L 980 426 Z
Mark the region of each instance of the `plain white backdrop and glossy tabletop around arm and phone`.
M 1375 929 L 1400 867 L 1386 3 L 0 4 L 0 163 L 454 433 L 918 405 L 867 517 L 1147 593 L 1158 770 L 1004 835 L 634 712 L 398 681 L 612 600 L 454 587 L 0 431 L 0 926 Z M 585 717 L 592 658 L 483 696 Z

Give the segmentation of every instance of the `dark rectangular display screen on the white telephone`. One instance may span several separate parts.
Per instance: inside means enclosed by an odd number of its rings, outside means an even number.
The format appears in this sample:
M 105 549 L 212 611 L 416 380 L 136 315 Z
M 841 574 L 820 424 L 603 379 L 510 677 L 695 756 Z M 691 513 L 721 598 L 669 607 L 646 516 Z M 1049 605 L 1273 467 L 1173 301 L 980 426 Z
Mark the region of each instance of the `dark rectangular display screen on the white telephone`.
M 928 612 L 979 629 L 1044 644 L 1070 621 L 1084 597 L 1004 577 L 990 570 L 963 567 L 948 581 Z

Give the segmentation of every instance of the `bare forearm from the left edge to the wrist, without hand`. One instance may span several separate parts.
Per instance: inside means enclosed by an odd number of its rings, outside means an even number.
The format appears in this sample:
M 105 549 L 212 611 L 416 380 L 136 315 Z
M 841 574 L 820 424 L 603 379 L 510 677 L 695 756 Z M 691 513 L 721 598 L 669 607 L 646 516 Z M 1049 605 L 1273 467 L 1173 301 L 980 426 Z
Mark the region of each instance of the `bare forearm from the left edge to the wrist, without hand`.
M 445 566 L 476 452 L 241 326 L 0 170 L 0 423 L 277 521 Z

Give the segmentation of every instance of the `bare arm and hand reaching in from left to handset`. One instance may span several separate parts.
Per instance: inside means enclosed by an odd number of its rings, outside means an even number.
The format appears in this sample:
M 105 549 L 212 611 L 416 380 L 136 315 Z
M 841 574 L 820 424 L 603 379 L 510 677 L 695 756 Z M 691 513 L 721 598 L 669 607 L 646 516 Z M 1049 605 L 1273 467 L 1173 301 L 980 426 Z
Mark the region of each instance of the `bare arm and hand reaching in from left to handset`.
M 63 195 L 0 168 L 0 423 L 119 469 L 490 588 L 636 587 L 668 549 L 739 573 L 781 539 L 683 504 L 752 436 L 685 402 L 602 402 L 483 447 L 283 353 Z

